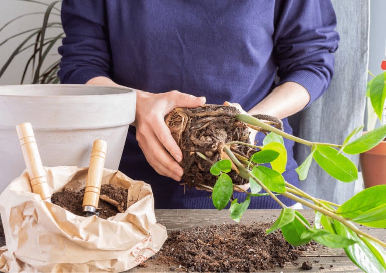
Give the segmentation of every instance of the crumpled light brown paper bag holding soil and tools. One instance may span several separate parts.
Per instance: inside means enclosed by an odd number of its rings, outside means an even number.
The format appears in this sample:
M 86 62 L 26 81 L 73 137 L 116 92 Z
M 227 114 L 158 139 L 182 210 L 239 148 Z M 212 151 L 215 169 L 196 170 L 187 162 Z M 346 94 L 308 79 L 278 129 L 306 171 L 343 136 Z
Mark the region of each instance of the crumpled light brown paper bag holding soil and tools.
M 83 188 L 87 168 L 45 168 L 51 195 L 64 186 Z M 156 223 L 151 187 L 104 169 L 102 184 L 128 189 L 124 213 L 108 219 L 77 216 L 31 192 L 28 173 L 0 195 L 6 247 L 2 272 L 122 272 L 154 255 L 167 238 Z M 130 205 L 131 203 L 131 205 Z

